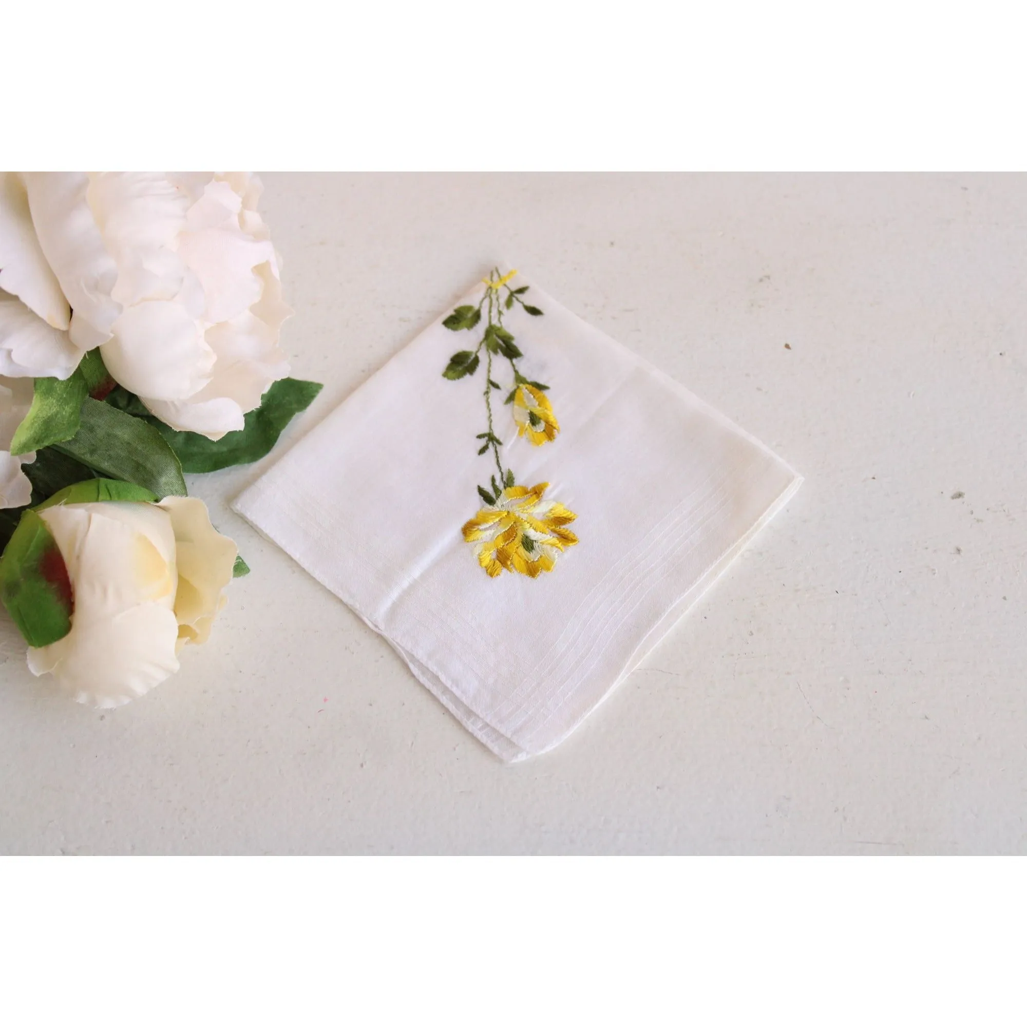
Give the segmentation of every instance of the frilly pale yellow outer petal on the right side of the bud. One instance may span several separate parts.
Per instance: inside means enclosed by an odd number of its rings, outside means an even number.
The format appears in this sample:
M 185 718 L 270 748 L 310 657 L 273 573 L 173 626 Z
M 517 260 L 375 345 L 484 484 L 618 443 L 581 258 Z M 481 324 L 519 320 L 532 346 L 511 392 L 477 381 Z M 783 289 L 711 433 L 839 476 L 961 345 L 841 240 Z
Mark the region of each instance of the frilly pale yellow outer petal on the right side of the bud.
M 158 505 L 170 515 L 175 531 L 179 649 L 190 642 L 199 645 L 210 637 L 214 618 L 228 601 L 224 592 L 232 580 L 238 548 L 215 530 L 202 500 L 168 496 Z

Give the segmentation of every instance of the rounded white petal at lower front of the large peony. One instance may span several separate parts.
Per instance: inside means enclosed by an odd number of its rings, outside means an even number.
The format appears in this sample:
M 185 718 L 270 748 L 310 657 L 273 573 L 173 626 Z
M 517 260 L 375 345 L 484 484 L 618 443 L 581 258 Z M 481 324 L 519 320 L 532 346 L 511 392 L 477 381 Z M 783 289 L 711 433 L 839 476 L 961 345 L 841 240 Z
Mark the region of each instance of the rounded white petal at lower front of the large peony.
M 101 352 L 121 385 L 156 400 L 197 392 L 210 381 L 217 359 L 185 307 L 164 300 L 126 308 Z

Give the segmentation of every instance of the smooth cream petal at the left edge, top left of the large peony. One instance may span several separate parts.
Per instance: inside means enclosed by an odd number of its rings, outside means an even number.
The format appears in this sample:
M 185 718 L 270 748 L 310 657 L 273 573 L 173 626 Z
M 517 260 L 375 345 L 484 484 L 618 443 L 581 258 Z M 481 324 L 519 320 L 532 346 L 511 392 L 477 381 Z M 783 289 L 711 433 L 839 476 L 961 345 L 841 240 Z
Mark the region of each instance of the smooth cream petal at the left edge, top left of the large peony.
M 16 172 L 0 172 L 0 289 L 50 328 L 68 331 L 71 309 L 40 249 L 25 183 Z

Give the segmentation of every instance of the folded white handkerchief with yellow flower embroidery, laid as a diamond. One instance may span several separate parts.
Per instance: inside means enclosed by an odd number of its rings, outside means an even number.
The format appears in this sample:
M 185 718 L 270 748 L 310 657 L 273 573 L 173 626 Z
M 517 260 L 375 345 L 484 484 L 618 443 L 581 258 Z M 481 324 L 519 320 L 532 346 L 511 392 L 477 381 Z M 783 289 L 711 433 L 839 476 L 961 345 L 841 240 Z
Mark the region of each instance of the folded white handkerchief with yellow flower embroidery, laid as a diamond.
M 566 738 L 800 483 L 494 271 L 235 509 L 518 760 Z

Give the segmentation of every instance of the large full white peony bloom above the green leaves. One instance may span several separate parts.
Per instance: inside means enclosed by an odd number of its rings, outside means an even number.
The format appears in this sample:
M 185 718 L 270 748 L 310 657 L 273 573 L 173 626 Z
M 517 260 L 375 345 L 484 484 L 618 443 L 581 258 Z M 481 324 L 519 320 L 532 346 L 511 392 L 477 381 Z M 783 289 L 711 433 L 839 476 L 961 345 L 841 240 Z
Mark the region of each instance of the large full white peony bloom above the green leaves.
M 67 377 L 100 346 L 172 427 L 242 428 L 289 374 L 278 334 L 292 311 L 260 193 L 246 173 L 8 173 L 0 289 L 16 308 L 0 303 L 0 373 Z

